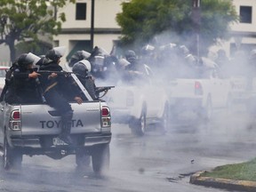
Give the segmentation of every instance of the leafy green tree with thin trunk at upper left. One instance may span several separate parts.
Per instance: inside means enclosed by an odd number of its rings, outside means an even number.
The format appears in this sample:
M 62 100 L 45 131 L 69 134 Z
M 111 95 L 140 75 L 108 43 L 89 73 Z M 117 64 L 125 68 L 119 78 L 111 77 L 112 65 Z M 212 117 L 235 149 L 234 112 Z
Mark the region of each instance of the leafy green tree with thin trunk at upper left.
M 0 0 L 0 44 L 7 44 L 10 58 L 15 60 L 15 44 L 38 42 L 38 36 L 58 35 L 65 13 L 57 10 L 76 0 Z

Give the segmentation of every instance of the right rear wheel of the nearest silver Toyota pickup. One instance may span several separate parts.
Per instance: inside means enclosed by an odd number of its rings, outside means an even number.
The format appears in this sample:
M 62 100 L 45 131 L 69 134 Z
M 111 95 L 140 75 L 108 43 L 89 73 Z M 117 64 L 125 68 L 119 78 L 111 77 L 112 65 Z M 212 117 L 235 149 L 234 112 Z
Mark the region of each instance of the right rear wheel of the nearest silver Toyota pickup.
M 92 169 L 96 174 L 105 174 L 109 170 L 109 144 L 98 145 L 92 148 Z

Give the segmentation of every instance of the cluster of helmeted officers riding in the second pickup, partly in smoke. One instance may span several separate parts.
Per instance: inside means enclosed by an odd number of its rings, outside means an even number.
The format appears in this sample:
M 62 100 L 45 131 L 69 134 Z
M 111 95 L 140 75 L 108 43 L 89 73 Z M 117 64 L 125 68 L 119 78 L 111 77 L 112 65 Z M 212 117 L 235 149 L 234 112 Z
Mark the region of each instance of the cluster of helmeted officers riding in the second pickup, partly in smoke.
M 87 60 L 92 65 L 90 75 L 95 79 L 116 85 L 119 81 L 128 84 L 139 84 L 140 80 L 147 80 L 149 72 L 147 65 L 139 60 L 138 55 L 128 50 L 124 52 L 124 58 L 118 59 L 114 54 L 102 51 L 94 47 L 92 52 L 77 51 L 69 60 L 69 67 L 75 69 L 75 63 Z M 74 68 L 75 67 L 75 68 Z

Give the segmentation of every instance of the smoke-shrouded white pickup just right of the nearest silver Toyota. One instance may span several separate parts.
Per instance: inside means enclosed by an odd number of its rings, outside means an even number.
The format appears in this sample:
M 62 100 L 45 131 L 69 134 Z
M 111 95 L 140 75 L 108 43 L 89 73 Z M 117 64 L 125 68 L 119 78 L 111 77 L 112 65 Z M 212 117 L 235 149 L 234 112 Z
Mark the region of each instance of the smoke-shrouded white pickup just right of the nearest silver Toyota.
M 161 84 L 117 84 L 104 100 L 111 108 L 113 122 L 129 124 L 133 134 L 143 136 L 150 125 L 166 131 L 169 101 Z

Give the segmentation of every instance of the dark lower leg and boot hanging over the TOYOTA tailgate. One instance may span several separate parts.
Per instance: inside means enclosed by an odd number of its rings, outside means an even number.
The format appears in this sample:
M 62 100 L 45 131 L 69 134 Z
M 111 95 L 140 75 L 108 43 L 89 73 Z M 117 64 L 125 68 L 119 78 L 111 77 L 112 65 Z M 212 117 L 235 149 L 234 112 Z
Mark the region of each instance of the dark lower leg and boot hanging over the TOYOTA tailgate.
M 63 140 L 68 145 L 72 145 L 73 141 L 70 137 L 71 131 L 71 123 L 72 123 L 72 111 L 67 112 L 63 116 L 61 116 L 61 132 L 60 132 L 60 140 Z

